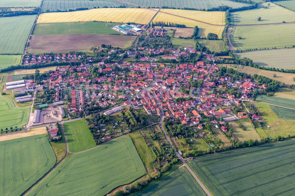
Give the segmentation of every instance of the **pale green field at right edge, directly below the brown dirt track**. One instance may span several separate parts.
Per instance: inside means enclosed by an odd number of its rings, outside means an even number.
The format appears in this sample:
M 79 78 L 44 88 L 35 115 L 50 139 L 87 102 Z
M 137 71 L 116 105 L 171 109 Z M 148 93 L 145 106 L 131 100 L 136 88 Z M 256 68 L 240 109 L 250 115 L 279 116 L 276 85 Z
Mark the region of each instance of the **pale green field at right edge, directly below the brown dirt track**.
M 238 50 L 292 47 L 295 34 L 291 32 L 294 31 L 295 24 L 234 26 L 230 41 Z

